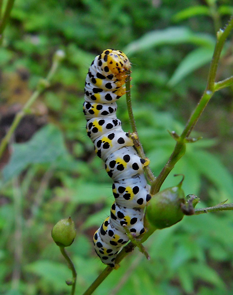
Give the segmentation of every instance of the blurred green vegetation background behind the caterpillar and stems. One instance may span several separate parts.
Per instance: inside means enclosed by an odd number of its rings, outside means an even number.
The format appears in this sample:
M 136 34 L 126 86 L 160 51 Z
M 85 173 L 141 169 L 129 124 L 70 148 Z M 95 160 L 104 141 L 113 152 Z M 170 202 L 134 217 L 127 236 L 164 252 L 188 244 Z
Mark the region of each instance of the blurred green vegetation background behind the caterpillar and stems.
M 92 236 L 113 202 L 111 180 L 95 157 L 82 113 L 85 76 L 93 58 L 120 49 L 132 62 L 132 104 L 151 169 L 157 175 L 206 86 L 215 34 L 233 14 L 229 0 L 16 0 L 0 47 L 0 137 L 45 77 L 57 49 L 66 59 L 51 86 L 18 126 L 1 161 L 0 294 L 68 294 L 71 276 L 51 229 L 69 216 L 77 236 L 68 249 L 76 294 L 104 269 Z M 231 34 L 232 36 L 232 34 Z M 232 37 L 218 79 L 232 75 Z M 185 156 L 163 188 L 185 174 L 185 194 L 199 207 L 233 202 L 233 87 L 216 93 Z M 118 114 L 129 130 L 124 97 Z M 233 294 L 232 213 L 186 216 L 135 249 L 95 291 L 100 294 Z

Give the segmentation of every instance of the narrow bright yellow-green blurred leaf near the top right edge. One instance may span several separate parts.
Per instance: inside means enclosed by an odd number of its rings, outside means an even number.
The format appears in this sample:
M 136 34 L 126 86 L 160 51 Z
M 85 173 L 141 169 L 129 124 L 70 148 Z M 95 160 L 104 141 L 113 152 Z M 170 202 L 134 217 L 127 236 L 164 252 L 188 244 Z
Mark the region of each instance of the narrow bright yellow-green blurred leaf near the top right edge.
M 176 13 L 172 20 L 174 22 L 179 22 L 180 20 L 185 20 L 189 17 L 193 17 L 196 15 L 208 15 L 210 16 L 210 9 L 207 6 L 204 5 L 197 5 L 197 6 L 191 6 L 186 9 L 183 9 L 182 11 L 179 11 Z

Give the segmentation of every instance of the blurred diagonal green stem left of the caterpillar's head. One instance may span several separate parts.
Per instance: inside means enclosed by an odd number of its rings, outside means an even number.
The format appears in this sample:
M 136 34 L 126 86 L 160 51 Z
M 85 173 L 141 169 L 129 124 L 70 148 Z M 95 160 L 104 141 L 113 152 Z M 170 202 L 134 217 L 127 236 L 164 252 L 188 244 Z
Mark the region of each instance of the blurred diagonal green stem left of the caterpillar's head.
M 38 85 L 37 85 L 38 89 L 33 92 L 31 97 L 29 98 L 29 100 L 23 106 L 22 110 L 20 110 L 16 114 L 16 116 L 14 118 L 14 121 L 11 124 L 10 129 L 8 130 L 7 134 L 5 135 L 5 137 L 1 141 L 1 144 L 0 144 L 0 158 L 2 157 L 2 154 L 5 151 L 5 148 L 6 148 L 7 144 L 9 143 L 9 141 L 11 139 L 11 136 L 13 135 L 13 133 L 14 133 L 15 129 L 17 128 L 17 126 L 19 125 L 19 123 L 20 123 L 21 119 L 23 118 L 23 116 L 26 113 L 28 113 L 29 108 L 31 107 L 31 105 L 36 101 L 36 99 L 45 90 L 45 88 L 48 88 L 48 86 L 50 85 L 49 82 L 50 82 L 51 78 L 53 77 L 54 73 L 56 72 L 57 67 L 58 67 L 59 64 L 60 64 L 60 61 L 57 58 L 54 58 L 54 61 L 52 63 L 51 69 L 49 70 L 49 73 L 48 73 L 47 77 L 38 82 Z

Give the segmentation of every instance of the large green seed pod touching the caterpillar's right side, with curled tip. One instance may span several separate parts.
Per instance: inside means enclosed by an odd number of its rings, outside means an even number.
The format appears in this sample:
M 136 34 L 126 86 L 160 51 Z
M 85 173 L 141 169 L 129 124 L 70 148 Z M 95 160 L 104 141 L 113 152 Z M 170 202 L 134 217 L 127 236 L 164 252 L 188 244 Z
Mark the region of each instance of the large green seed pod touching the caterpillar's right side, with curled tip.
M 177 186 L 159 191 L 147 205 L 146 218 L 155 228 L 169 227 L 184 217 L 181 210 L 181 205 L 185 203 L 185 194 L 181 188 L 183 180 L 184 176 Z

